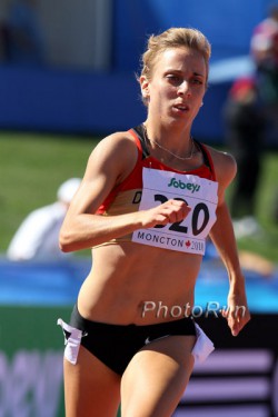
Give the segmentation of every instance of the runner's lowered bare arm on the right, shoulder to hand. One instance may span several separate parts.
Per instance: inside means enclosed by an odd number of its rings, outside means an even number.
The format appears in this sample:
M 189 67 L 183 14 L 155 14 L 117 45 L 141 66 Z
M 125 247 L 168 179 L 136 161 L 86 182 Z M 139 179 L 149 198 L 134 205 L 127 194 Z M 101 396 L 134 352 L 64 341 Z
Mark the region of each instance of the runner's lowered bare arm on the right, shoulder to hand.
M 227 318 L 232 336 L 237 336 L 244 326 L 250 320 L 248 310 L 245 277 L 242 275 L 231 217 L 225 191 L 234 180 L 237 172 L 235 159 L 227 153 L 211 152 L 216 177 L 219 183 L 217 221 L 210 230 L 210 238 L 216 246 L 229 276 L 228 309 L 222 311 Z

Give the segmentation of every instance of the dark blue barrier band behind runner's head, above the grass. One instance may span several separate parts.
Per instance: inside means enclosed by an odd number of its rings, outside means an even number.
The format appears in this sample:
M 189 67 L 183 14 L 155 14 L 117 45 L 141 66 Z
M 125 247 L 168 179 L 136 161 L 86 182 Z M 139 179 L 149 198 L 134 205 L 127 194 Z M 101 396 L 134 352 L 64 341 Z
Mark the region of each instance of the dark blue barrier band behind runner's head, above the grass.
M 193 136 L 222 141 L 230 81 L 211 85 Z M 0 67 L 0 129 L 107 135 L 141 123 L 146 109 L 132 72 Z

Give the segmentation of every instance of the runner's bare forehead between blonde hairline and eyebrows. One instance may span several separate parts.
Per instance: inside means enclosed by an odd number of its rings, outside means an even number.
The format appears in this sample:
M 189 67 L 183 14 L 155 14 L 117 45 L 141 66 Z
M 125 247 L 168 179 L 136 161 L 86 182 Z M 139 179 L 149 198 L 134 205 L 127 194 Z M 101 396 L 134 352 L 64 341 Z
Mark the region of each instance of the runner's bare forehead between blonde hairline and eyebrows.
M 191 48 L 170 48 L 162 51 L 156 59 L 153 71 L 192 70 L 206 77 L 206 61 L 201 52 Z

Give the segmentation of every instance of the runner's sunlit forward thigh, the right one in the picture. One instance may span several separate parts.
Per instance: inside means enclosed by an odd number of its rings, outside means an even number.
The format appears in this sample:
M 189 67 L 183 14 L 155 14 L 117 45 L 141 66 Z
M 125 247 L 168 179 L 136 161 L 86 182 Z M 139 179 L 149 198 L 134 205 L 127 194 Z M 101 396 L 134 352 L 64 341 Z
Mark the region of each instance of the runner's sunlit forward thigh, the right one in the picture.
M 169 417 L 190 378 L 195 336 L 155 340 L 135 355 L 121 381 L 122 417 Z

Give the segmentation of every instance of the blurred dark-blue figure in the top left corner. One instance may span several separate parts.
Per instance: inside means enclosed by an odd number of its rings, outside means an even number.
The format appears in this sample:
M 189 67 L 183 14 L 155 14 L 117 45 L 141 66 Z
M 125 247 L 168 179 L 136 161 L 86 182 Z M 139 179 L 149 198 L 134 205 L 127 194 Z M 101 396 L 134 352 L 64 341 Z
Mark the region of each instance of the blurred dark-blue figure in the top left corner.
M 37 0 L 13 0 L 9 18 L 9 56 L 18 64 L 43 63 L 43 36 Z

